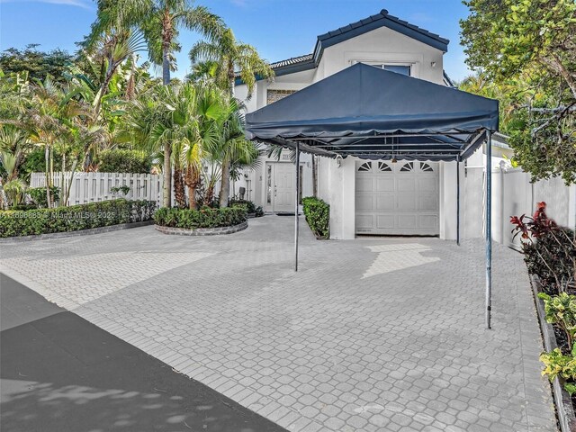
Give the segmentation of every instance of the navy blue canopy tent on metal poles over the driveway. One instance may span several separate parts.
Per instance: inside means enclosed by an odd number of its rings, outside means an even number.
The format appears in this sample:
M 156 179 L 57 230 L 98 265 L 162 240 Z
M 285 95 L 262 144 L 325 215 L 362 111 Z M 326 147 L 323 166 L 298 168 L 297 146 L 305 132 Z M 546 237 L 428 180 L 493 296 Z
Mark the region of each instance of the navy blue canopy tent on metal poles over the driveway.
M 491 133 L 498 101 L 358 63 L 246 116 L 247 139 L 325 156 L 460 163 L 486 140 L 486 324 L 491 320 Z M 458 211 L 460 180 L 458 172 Z M 299 190 L 296 169 L 296 190 Z M 296 193 L 296 195 L 298 195 Z M 295 269 L 298 269 L 298 199 Z M 458 216 L 458 241 L 459 222 Z

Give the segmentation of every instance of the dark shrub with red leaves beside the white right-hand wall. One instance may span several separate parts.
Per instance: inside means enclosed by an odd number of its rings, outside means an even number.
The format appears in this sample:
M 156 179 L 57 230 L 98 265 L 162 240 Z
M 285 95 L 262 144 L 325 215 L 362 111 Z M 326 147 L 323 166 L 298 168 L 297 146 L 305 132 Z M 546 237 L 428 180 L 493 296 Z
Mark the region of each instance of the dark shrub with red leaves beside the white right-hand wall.
M 574 290 L 576 239 L 571 229 L 559 227 L 546 215 L 546 203 L 538 202 L 532 217 L 512 216 L 514 238 L 522 238 L 528 272 L 537 275 L 548 293 Z

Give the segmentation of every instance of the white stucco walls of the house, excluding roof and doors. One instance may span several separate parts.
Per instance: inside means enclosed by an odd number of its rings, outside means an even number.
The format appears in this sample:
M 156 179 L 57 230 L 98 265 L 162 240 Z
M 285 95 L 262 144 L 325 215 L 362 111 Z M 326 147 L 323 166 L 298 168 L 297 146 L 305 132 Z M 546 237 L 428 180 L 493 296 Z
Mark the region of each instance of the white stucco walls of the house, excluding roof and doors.
M 258 81 L 254 95 L 247 101 L 247 111 L 252 112 L 266 105 L 268 88 L 300 90 L 350 67 L 356 62 L 410 65 L 412 76 L 439 85 L 443 84 L 443 52 L 441 50 L 413 40 L 397 31 L 382 27 L 324 49 L 320 63 L 315 69 L 278 76 L 274 82 Z M 245 85 L 238 85 L 237 95 L 240 98 L 246 97 Z M 330 204 L 331 238 L 355 237 L 355 159 L 354 157 L 347 157 L 338 168 L 334 159 L 320 157 L 319 196 Z M 310 164 L 306 163 L 305 157 L 302 157 L 302 160 L 305 162 L 303 196 L 306 196 L 312 193 L 312 175 Z M 253 190 L 252 199 L 257 202 L 257 205 L 264 206 L 265 188 L 263 184 L 265 182 L 266 158 L 263 157 L 262 162 L 260 168 L 256 172 L 250 173 L 249 176 Z M 464 167 L 462 169 L 464 183 Z M 452 239 L 456 236 L 455 163 L 441 164 L 440 170 L 440 236 L 441 238 Z M 464 213 L 464 184 L 462 190 Z M 464 216 L 462 220 L 464 233 Z

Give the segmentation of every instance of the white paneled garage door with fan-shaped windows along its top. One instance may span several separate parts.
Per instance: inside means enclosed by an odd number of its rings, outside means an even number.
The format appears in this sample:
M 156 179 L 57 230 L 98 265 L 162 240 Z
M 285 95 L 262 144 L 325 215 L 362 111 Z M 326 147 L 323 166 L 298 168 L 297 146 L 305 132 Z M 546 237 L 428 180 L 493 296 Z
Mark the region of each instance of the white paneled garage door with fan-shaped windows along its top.
M 356 234 L 439 234 L 438 165 L 356 161 Z

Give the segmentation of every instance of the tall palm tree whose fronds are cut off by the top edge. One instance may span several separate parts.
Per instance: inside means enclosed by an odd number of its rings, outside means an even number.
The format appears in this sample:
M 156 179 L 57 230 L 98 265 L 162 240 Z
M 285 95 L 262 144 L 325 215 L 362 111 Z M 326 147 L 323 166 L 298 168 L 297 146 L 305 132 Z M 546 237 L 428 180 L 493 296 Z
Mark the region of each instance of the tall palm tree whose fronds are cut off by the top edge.
M 223 23 L 205 7 L 194 6 L 190 0 L 99 0 L 98 19 L 93 33 L 101 34 L 112 29 L 137 28 L 148 43 L 150 60 L 162 65 L 162 82 L 170 83 L 170 71 L 175 69 L 174 52 L 180 50 L 180 29 L 200 31 L 216 38 L 223 31 Z M 166 207 L 171 205 L 171 150 L 164 148 L 164 198 Z

